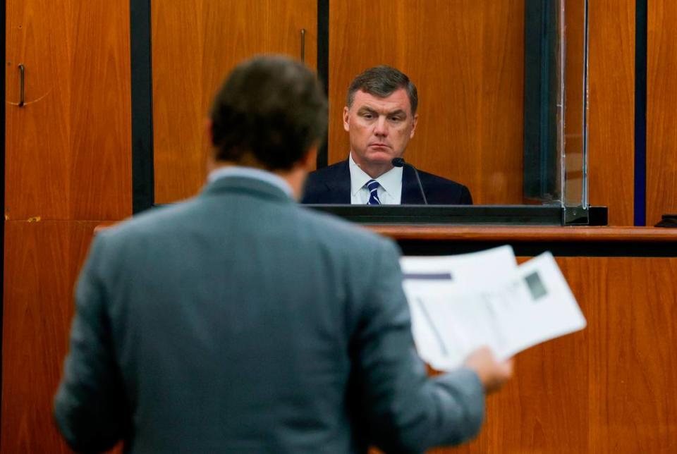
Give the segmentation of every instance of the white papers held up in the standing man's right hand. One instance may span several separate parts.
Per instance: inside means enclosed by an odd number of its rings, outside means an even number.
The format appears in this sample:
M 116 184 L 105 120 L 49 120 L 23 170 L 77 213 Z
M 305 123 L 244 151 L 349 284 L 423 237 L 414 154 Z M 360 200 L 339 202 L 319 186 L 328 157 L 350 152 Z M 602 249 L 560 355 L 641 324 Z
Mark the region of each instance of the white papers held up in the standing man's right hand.
M 549 252 L 517 265 L 509 246 L 449 257 L 402 257 L 416 348 L 438 370 L 472 350 L 499 359 L 585 327 Z

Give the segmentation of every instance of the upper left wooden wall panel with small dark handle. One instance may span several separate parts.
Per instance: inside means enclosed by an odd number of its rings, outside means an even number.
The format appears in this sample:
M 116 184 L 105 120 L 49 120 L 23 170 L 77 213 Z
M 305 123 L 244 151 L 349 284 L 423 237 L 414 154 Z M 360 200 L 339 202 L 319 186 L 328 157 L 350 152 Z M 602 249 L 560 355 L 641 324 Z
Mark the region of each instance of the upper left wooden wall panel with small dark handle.
M 128 4 L 8 1 L 6 218 L 131 214 Z

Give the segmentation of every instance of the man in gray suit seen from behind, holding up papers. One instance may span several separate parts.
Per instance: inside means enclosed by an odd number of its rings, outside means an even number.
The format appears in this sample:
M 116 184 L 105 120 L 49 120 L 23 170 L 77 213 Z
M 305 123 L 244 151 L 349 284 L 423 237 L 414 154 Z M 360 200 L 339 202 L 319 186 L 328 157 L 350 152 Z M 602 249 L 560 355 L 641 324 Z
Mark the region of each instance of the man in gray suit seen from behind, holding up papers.
M 314 75 L 238 66 L 216 95 L 209 183 L 99 233 L 54 413 L 75 450 L 415 452 L 460 443 L 511 364 L 429 378 L 391 241 L 295 203 L 324 135 Z

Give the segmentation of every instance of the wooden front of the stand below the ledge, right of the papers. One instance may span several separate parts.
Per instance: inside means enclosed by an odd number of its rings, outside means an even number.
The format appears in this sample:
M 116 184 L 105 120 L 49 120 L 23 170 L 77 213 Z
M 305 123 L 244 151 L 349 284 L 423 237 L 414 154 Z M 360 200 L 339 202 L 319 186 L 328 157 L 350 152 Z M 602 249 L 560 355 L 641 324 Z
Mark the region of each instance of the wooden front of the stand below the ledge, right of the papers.
M 677 449 L 677 259 L 557 262 L 587 328 L 516 357 L 477 440 L 434 453 L 669 453 Z

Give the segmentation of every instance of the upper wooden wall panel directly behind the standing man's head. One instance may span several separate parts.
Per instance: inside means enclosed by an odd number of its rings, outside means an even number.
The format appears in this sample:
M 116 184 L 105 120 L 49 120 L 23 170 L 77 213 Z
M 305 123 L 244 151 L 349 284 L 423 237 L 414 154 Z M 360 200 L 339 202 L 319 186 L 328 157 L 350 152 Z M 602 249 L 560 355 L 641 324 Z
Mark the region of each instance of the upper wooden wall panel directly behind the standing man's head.
M 317 66 L 317 1 L 152 2 L 155 202 L 195 195 L 205 182 L 205 119 L 221 80 L 255 54 Z

